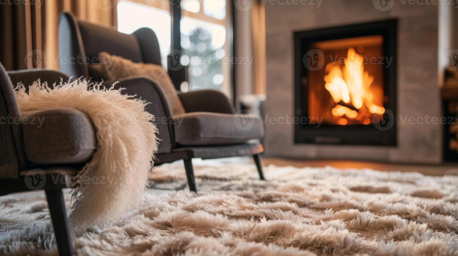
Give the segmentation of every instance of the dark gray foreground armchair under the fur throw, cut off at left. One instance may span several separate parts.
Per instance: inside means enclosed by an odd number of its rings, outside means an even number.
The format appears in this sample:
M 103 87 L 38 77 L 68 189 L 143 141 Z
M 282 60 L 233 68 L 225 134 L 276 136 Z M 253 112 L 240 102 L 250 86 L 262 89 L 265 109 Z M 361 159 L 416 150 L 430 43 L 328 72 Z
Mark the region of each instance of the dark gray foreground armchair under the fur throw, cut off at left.
M 73 108 L 20 112 L 13 85 L 68 80 L 51 70 L 6 72 L 0 64 L 0 195 L 44 189 L 59 255 L 72 255 L 62 188 L 92 158 L 96 135 L 91 119 Z

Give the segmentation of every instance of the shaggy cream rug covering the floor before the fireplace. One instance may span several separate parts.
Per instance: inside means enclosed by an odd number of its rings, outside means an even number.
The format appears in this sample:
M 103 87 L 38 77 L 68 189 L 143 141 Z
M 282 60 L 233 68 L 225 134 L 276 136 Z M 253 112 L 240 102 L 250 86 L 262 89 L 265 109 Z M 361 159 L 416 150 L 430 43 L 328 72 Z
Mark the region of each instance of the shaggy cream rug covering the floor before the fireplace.
M 176 185 L 182 169 L 152 179 Z M 454 176 L 270 165 L 259 181 L 252 164 L 195 169 L 199 195 L 146 189 L 138 210 L 77 234 L 77 255 L 458 254 Z M 12 230 L 0 254 L 57 254 L 42 193 L 0 197 L 0 209 Z

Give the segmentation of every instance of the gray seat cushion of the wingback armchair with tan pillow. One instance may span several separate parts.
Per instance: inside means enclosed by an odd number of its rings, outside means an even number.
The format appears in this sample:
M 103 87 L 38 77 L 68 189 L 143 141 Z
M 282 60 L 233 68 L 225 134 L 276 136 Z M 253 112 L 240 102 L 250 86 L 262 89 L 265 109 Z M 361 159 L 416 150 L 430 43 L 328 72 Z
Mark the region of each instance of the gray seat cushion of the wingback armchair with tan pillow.
M 191 112 L 174 116 L 175 142 L 180 145 L 240 144 L 264 135 L 261 118 Z

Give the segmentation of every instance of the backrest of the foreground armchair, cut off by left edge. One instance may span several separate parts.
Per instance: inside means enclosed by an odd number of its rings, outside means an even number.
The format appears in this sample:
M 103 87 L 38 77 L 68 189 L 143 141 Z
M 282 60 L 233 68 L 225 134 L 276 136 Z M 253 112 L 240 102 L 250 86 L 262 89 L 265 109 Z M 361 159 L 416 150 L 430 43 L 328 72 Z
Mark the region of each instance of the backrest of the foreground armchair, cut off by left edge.
M 22 160 L 20 112 L 10 77 L 0 63 L 0 178 L 17 178 Z

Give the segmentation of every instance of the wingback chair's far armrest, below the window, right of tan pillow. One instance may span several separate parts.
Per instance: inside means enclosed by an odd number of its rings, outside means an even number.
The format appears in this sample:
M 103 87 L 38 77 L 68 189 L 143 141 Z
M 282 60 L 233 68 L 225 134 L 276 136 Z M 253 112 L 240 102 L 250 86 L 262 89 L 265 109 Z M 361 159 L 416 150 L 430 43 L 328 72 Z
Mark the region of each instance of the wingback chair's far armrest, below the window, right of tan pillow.
M 221 91 L 190 91 L 179 93 L 178 96 L 186 112 L 235 113 L 234 105 Z

